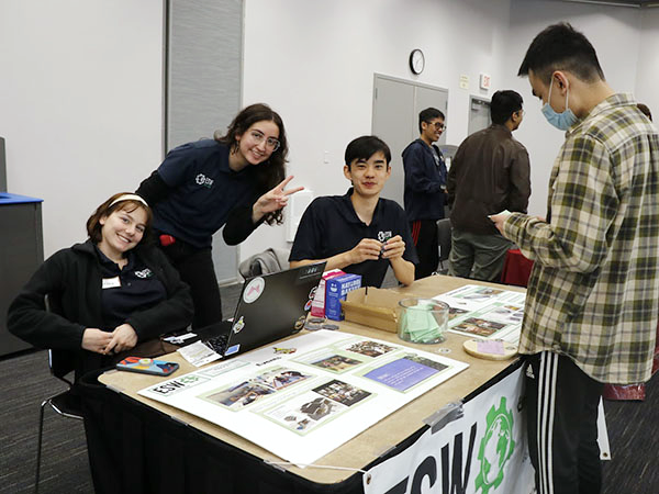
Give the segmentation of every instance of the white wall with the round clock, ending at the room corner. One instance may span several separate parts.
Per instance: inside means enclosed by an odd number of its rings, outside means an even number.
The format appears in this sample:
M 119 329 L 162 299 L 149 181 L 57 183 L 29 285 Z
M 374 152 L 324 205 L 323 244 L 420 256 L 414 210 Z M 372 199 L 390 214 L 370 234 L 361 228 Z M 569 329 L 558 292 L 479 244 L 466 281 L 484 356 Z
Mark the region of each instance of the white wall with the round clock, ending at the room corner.
M 469 94 L 479 74 L 503 79 L 510 0 L 247 0 L 243 102 L 278 111 L 290 142 L 289 170 L 316 195 L 340 194 L 343 154 L 370 134 L 373 74 L 415 79 L 449 91 L 447 143 L 467 135 Z M 413 48 L 426 67 L 412 76 Z M 459 89 L 461 74 L 471 79 Z M 328 151 L 330 164 L 323 162 Z M 260 227 L 241 246 L 246 258 L 284 246 L 283 228 Z

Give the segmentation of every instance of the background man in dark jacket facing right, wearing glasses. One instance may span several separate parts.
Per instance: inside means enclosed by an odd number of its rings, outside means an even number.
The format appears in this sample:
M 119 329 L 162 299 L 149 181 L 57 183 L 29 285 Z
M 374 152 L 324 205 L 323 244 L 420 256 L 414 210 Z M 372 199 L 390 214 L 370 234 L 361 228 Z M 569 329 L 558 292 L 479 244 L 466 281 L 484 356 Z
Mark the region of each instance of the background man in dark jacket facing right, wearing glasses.
M 418 255 L 415 279 L 437 270 L 439 246 L 437 220 L 444 217 L 446 205 L 446 165 L 437 146 L 444 125 L 444 113 L 426 108 L 418 114 L 421 136 L 403 150 L 405 169 L 405 214 Z

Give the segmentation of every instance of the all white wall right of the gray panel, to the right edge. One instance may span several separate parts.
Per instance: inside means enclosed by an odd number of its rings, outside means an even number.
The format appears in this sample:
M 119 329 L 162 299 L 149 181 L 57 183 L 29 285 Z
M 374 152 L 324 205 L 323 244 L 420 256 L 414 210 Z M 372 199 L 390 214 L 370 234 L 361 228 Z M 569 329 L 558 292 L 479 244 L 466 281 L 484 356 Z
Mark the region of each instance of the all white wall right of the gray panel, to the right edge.
M 297 183 L 322 195 L 345 191 L 343 150 L 370 133 L 373 72 L 448 89 L 448 144 L 467 135 L 469 94 L 514 89 L 526 109 L 515 137 L 530 155 L 529 213 L 544 215 L 563 135 L 545 121 L 528 81 L 516 75 L 534 36 L 559 21 L 590 38 L 615 90 L 636 91 L 659 115 L 659 96 L 650 88 L 659 76 L 659 9 L 558 0 L 246 0 L 244 104 L 266 101 L 281 113 L 291 145 L 289 170 Z M 418 77 L 406 65 L 414 47 L 426 55 Z M 492 76 L 489 92 L 478 90 L 481 71 Z M 470 90 L 459 88 L 461 74 L 470 77 Z M 325 150 L 330 164 L 323 164 Z M 283 235 L 283 228 L 259 228 L 242 245 L 241 258 L 290 246 Z

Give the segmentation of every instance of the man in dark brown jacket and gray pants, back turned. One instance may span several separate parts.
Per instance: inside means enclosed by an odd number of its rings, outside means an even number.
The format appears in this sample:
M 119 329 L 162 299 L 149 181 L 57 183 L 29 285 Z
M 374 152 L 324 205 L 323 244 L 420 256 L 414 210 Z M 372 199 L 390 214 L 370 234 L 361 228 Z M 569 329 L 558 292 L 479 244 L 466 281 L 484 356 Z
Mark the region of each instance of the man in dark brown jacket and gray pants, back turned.
M 530 195 L 528 153 L 513 138 L 524 117 L 523 102 L 515 91 L 492 94 L 492 125 L 467 137 L 451 160 L 447 191 L 453 276 L 499 281 L 512 243 L 488 215 L 504 210 L 526 213 Z

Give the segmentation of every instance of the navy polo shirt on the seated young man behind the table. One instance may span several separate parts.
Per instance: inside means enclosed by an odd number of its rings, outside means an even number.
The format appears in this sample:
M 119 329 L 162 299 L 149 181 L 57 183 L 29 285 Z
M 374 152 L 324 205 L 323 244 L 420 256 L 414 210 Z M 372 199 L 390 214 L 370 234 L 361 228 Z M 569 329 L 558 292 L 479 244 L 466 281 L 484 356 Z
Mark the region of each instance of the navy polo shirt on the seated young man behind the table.
M 373 218 L 367 225 L 355 212 L 350 195 L 326 195 L 315 199 L 300 220 L 289 261 L 326 259 L 354 248 L 362 238 L 392 238 L 400 235 L 405 243 L 403 259 L 418 263 L 403 209 L 389 199 L 378 201 Z M 346 266 L 343 271 L 361 274 L 362 287 L 381 287 L 389 268 L 388 259 L 366 260 Z

